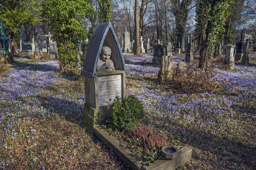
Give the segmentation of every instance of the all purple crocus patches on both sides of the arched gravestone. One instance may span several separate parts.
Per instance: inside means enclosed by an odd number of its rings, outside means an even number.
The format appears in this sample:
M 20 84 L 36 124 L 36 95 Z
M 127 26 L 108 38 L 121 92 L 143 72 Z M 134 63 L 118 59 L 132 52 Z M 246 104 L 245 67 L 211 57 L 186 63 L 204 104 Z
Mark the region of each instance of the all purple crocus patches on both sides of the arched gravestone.
M 133 82 L 134 86 L 129 87 L 127 93 L 143 102 L 149 118 L 153 119 L 151 122 L 157 125 L 167 123 L 170 127 L 174 125 L 165 132 L 186 134 L 189 129 L 194 129 L 203 135 L 222 135 L 230 133 L 232 129 L 235 134 L 241 124 L 255 123 L 255 66 L 236 65 L 235 71 L 216 68 L 218 74 L 212 79 L 227 82 L 223 92 L 187 95 L 175 94 L 172 89 L 155 88 L 156 85 L 152 88 L 152 78 L 157 77 L 159 67 L 143 62 L 152 58 L 152 54 L 145 57 L 125 56 L 125 61 L 128 61 L 127 81 L 147 78 Z M 175 63 L 179 58 L 173 58 Z M 57 74 L 57 61 L 29 62 L 27 58 L 15 58 L 15 61 L 18 64 L 0 78 L 0 148 L 3 150 L 7 148 L 6 139 L 17 136 L 21 122 L 55 115 L 82 118 L 85 102 L 83 94 L 73 95 L 70 94 L 73 89 L 67 92 L 54 85 L 65 81 L 65 77 Z M 175 129 L 177 124 L 181 124 L 182 128 Z M 31 127 L 28 142 L 41 138 L 32 135 L 36 131 Z M 32 162 L 36 161 L 38 157 L 33 157 Z M 8 166 L 8 162 L 0 163 L 2 167 Z

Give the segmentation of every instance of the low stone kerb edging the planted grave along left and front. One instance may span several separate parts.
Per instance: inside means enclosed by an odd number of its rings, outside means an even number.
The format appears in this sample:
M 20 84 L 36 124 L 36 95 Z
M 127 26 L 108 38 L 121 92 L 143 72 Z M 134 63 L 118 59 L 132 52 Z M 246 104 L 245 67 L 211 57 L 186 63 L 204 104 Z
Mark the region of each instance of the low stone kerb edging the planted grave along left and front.
M 125 161 L 129 167 L 133 170 L 140 170 L 138 164 L 142 164 L 141 161 L 137 161 L 133 156 L 131 151 L 126 150 L 124 147 L 119 146 L 119 141 L 117 141 L 113 136 L 108 135 L 103 129 L 99 128 L 99 125 L 95 125 L 92 128 L 93 132 L 96 136 L 105 142 L 105 144 L 113 150 L 119 158 Z M 150 164 L 150 166 L 143 166 L 142 170 L 175 170 L 180 165 L 185 164 L 187 161 L 191 159 L 192 149 L 185 147 L 177 147 L 178 148 L 178 156 L 173 158 L 172 160 L 163 160 L 159 159 Z

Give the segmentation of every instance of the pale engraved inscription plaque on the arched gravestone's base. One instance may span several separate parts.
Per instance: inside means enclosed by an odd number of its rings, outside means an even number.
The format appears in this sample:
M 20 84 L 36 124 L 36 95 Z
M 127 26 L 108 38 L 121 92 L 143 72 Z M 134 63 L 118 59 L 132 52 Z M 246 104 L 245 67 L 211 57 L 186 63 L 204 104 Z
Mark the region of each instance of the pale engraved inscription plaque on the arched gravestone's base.
M 99 106 L 113 104 L 116 96 L 122 96 L 121 75 L 107 75 L 98 77 Z

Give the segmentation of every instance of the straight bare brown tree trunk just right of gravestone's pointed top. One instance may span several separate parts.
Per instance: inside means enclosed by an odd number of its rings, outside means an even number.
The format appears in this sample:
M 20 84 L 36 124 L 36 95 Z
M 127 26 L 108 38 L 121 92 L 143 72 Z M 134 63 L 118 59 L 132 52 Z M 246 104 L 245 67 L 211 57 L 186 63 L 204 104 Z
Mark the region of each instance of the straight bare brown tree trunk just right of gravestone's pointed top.
M 135 42 L 136 42 L 136 50 L 134 55 L 140 55 L 139 0 L 135 0 L 134 22 L 135 22 Z

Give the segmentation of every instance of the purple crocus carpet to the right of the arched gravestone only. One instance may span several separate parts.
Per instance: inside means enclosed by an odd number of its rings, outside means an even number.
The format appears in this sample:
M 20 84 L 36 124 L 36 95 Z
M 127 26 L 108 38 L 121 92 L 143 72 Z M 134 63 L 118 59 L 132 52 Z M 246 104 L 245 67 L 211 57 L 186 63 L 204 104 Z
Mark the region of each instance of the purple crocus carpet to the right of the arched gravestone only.
M 151 58 L 125 57 L 128 63 L 132 63 L 126 65 L 127 75 L 133 78 L 156 77 L 158 67 L 138 64 L 148 59 Z M 177 63 L 175 58 L 174 61 Z M 250 121 L 252 114 L 255 114 L 256 68 L 236 65 L 236 71 L 217 68 L 216 71 L 218 76 L 213 77 L 214 81 L 228 82 L 222 94 L 174 94 L 172 89 L 152 89 L 149 82 L 136 82 L 135 87 L 127 92 L 143 101 L 148 114 L 158 118 L 157 123 L 168 121 L 170 124 L 182 124 L 180 133 L 185 133 L 189 127 L 199 129 L 202 133 L 219 135 L 227 133 L 230 128 L 236 128 L 238 119 L 240 123 Z M 243 107 L 248 100 L 254 103 L 253 107 Z

